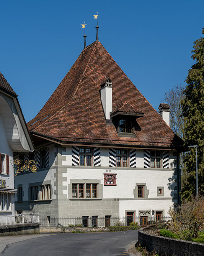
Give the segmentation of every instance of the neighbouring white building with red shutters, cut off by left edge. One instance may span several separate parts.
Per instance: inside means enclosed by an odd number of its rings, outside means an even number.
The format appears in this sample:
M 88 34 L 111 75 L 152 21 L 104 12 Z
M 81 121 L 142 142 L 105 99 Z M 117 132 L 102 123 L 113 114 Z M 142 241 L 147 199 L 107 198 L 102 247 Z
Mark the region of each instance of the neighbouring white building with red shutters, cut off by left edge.
M 14 214 L 13 151 L 30 152 L 33 144 L 15 91 L 0 72 L 0 215 Z

